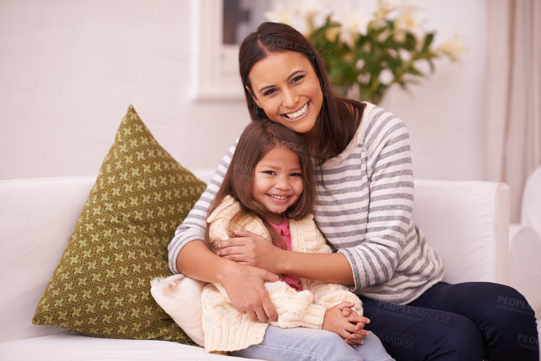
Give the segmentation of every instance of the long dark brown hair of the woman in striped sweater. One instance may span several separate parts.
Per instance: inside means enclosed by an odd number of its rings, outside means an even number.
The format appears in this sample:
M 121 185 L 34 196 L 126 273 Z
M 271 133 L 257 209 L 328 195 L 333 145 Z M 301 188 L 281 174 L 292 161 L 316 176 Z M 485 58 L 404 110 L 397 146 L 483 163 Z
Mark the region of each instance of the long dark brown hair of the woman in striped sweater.
M 256 62 L 273 52 L 288 51 L 298 52 L 308 59 L 318 75 L 323 93 L 323 104 L 320 111 L 321 132 L 318 149 L 316 149 L 318 151 L 315 152 L 316 156 L 314 156 L 318 160 L 316 165 L 319 166 L 321 172 L 321 165 L 329 157 L 342 153 L 353 139 L 365 104 L 333 94 L 320 52 L 316 51 L 305 36 L 287 24 L 267 22 L 262 23 L 256 31 L 246 36 L 239 49 L 240 77 L 252 121 L 269 118 L 253 99 L 255 96 L 249 79 L 250 70 Z

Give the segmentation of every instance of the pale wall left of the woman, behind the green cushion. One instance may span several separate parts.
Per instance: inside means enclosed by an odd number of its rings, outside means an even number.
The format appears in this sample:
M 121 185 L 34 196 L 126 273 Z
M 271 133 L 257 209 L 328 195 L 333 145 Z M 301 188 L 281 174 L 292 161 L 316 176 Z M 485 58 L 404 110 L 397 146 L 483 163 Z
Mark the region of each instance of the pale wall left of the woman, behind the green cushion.
M 169 20 L 169 24 L 164 24 L 130 16 L 126 14 L 126 1 L 0 3 L 0 149 L 12 151 L 9 143 L 4 148 L 6 142 L 15 143 L 18 149 L 21 145 L 30 149 L 30 154 L 24 150 L 0 153 L 0 174 L 5 177 L 97 174 L 130 103 L 137 110 L 146 109 L 139 114 L 150 132 L 181 165 L 189 168 L 217 166 L 249 121 L 243 102 L 194 103 L 188 99 L 190 63 L 198 60 L 184 57 L 188 61 L 184 62 L 147 52 L 148 42 L 181 48 L 181 54 L 192 51 L 190 36 L 197 25 L 189 24 L 190 19 L 187 23 Z M 188 1 L 148 1 L 143 5 L 188 17 L 191 11 Z M 76 29 L 56 24 L 45 29 L 24 23 L 21 20 L 31 21 L 30 15 L 10 15 L 10 8 L 33 12 L 34 17 L 39 12 L 68 19 L 77 23 Z M 6 15 L 15 20 L 5 18 Z M 37 48 L 41 54 L 18 49 L 10 54 L 4 51 L 9 49 L 6 42 L 21 43 L 24 49 L 31 45 L 32 51 Z M 173 86 L 182 83 L 181 89 L 159 83 L 148 88 L 115 80 L 110 78 L 115 74 L 111 72 L 113 67 L 137 72 L 143 78 L 142 73 L 166 78 Z M 14 80 L 3 80 L 11 75 L 17 76 L 17 81 L 26 77 L 62 90 L 55 93 L 39 88 L 31 92 L 14 89 L 5 85 L 16 85 Z M 135 75 L 128 78 L 134 80 Z M 7 115 L 2 107 L 20 110 L 25 118 Z M 161 119 L 145 114 L 150 111 L 147 108 L 157 109 L 158 115 L 161 111 L 174 115 L 178 121 L 157 123 Z M 194 121 L 188 123 L 188 118 Z M 36 154 L 42 154 L 39 149 L 45 150 L 45 156 L 31 154 L 32 148 L 37 148 Z

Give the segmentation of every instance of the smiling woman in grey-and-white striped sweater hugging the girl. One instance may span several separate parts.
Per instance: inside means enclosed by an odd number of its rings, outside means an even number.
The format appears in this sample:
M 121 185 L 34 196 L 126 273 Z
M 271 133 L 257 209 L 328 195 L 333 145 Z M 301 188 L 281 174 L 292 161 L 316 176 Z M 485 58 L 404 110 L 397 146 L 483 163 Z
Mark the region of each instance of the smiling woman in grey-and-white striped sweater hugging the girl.
M 411 219 L 413 169 L 400 119 L 373 104 L 335 97 L 318 52 L 285 24 L 263 23 L 248 35 L 239 68 L 252 121 L 270 119 L 307 141 L 318 165 L 314 219 L 338 252 L 286 252 L 266 247 L 260 235 L 246 231 L 222 241 L 219 255 L 206 247 L 206 210 L 235 142 L 175 232 L 169 245 L 171 272 L 222 284 L 230 299 L 242 299 L 237 311 L 261 321 L 276 320 L 262 285 L 278 280 L 276 274 L 352 285 L 364 303 L 360 324 L 365 330 L 345 342 L 362 344 L 370 330 L 398 360 L 539 359 L 538 350 L 519 342 L 521 335 L 537 338 L 532 314 L 498 307 L 506 297 L 527 304 L 520 293 L 492 283 L 441 282 L 441 259 Z M 246 273 L 251 277 L 242 277 Z M 280 345 L 265 339 L 261 345 L 302 359 L 320 355 L 332 342 L 285 337 Z M 237 354 L 249 357 L 248 351 Z

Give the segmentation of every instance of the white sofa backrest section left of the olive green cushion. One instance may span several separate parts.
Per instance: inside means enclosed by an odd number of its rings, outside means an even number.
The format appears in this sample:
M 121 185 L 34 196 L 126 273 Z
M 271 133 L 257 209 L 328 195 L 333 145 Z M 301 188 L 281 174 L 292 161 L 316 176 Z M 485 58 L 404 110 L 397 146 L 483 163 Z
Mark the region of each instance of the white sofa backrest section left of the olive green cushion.
M 0 342 L 62 333 L 32 316 L 96 176 L 0 183 Z

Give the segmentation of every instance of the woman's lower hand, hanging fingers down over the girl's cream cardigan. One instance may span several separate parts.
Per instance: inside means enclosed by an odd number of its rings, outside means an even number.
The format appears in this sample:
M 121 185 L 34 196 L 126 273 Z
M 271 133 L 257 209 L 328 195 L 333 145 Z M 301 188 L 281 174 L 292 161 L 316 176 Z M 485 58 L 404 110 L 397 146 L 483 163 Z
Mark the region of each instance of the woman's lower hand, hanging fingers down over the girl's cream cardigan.
M 267 322 L 269 319 L 278 321 L 278 315 L 263 283 L 279 279 L 278 275 L 267 270 L 232 263 L 222 275 L 221 284 L 240 314 L 247 313 L 252 320 L 259 318 Z

